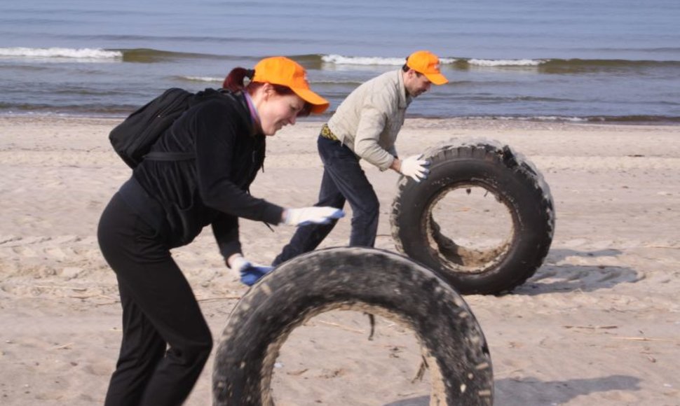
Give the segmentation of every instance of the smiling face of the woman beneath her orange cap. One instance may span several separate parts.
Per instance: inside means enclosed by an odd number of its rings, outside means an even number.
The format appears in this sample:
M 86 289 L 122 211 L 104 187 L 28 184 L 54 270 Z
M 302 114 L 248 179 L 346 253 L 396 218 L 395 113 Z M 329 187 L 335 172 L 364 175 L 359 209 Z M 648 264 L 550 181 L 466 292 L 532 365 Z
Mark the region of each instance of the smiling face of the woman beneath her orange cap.
M 263 90 L 261 103 L 257 106 L 262 132 L 274 135 L 285 125 L 295 124 L 297 114 L 304 108 L 304 100 L 297 94 L 278 94 L 266 85 Z

